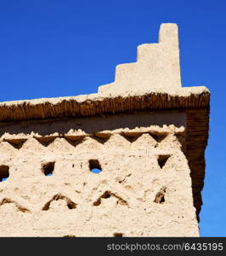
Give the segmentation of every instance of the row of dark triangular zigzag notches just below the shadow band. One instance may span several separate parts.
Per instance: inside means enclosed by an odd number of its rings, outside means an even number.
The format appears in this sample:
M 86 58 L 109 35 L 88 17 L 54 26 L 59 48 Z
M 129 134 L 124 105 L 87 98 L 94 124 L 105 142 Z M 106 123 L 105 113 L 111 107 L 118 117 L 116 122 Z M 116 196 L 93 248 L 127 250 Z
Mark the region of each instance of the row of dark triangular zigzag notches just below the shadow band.
M 158 147 L 169 135 L 167 132 L 125 132 L 122 131 L 116 134 L 101 134 L 94 133 L 88 136 L 62 136 L 62 137 L 33 137 L 38 143 L 44 148 L 48 148 L 54 145 L 56 139 L 64 139 L 65 142 L 69 143 L 72 147 L 77 147 L 78 145 L 85 143 L 96 143 L 96 145 L 110 145 L 111 142 L 115 145 L 133 145 L 133 143 L 149 143 L 152 147 Z M 12 147 L 16 149 L 24 148 L 24 144 L 30 141 L 32 138 L 3 138 L 3 142 L 9 143 Z M 32 146 L 32 144 L 30 145 Z M 27 148 L 27 147 L 26 147 Z

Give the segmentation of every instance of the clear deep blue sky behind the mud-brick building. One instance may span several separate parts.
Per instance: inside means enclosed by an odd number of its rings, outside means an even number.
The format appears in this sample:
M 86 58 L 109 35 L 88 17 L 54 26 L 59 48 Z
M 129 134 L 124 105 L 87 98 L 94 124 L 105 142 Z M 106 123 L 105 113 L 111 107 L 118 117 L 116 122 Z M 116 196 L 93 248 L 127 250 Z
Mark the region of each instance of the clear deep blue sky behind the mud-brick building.
M 226 1 L 2 0 L 0 101 L 96 92 L 162 22 L 179 26 L 183 86 L 212 92 L 201 236 L 225 236 Z

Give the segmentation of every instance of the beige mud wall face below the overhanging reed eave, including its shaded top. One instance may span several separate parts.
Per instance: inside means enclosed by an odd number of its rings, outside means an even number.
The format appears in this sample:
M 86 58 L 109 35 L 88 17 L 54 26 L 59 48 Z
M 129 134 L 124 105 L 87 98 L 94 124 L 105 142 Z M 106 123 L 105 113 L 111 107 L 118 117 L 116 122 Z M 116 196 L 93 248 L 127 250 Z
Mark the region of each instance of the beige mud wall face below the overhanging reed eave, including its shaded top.
M 198 236 L 185 130 L 178 112 L 2 125 L 1 236 Z

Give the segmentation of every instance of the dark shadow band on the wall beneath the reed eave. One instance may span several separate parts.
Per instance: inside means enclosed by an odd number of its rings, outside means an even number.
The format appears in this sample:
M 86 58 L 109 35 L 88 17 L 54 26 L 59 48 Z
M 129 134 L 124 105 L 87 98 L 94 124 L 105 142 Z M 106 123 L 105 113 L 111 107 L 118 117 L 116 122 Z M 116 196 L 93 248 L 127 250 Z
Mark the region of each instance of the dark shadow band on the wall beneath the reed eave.
M 34 132 L 41 136 L 47 136 L 54 134 L 54 132 L 64 135 L 71 130 L 93 133 L 95 131 L 113 131 L 121 128 L 135 129 L 137 127 L 149 127 L 150 125 L 185 127 L 186 115 L 184 112 L 179 111 L 133 111 L 102 117 L 43 119 L 1 123 L 0 137 L 6 132 L 10 135 L 31 134 L 31 132 Z

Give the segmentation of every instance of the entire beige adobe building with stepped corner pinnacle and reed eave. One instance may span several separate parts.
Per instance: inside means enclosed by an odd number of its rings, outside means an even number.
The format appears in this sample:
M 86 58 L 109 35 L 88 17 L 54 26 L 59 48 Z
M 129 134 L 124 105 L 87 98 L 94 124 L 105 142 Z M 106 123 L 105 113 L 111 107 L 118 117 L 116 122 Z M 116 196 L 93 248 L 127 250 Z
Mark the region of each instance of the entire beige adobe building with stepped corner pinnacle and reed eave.
M 176 24 L 98 93 L 1 102 L 0 236 L 199 236 L 209 102 Z

